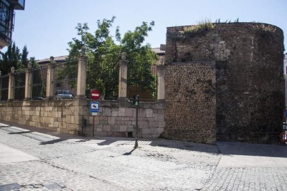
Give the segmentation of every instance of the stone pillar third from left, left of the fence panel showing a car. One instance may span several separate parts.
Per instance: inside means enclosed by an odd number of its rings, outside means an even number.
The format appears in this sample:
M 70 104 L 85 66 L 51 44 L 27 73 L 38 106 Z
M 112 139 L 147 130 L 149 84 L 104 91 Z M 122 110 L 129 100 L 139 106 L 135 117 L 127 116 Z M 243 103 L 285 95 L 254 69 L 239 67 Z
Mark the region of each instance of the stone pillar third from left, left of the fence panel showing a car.
M 47 68 L 47 84 L 46 84 L 46 98 L 51 99 L 54 96 L 54 81 L 55 78 L 55 61 L 54 57 L 50 57 L 50 63 Z

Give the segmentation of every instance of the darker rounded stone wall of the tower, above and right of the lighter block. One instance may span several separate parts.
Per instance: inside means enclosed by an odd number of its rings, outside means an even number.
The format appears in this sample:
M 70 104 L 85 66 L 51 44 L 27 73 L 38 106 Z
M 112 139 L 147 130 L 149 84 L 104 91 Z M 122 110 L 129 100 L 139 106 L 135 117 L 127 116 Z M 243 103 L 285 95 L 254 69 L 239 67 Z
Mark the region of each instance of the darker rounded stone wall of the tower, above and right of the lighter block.
M 167 28 L 167 64 L 216 62 L 218 140 L 277 140 L 284 109 L 283 38 L 282 30 L 269 24 Z

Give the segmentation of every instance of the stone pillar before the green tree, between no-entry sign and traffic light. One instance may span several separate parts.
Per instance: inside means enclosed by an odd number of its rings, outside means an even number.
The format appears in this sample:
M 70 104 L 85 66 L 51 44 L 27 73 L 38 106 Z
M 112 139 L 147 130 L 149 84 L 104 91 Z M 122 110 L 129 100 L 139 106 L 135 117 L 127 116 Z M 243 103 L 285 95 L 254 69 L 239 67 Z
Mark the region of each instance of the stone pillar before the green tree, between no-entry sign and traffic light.
M 121 53 L 119 64 L 119 99 L 127 98 L 128 61 L 126 53 Z

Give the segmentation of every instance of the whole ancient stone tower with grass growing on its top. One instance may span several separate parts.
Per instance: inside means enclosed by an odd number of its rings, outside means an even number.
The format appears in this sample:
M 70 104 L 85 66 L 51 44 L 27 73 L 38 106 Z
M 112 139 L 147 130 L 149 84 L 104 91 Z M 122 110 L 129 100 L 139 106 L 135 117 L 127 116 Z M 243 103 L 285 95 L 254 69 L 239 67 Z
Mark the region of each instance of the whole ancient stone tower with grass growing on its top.
M 277 141 L 284 35 L 270 24 L 167 28 L 163 136 L 199 143 Z

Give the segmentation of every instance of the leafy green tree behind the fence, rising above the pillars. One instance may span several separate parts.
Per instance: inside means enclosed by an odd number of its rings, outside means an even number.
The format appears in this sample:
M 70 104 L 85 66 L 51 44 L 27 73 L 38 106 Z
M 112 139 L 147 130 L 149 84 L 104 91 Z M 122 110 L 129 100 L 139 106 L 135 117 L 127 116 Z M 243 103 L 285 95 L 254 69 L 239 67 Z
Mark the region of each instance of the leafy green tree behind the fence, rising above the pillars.
M 150 45 L 143 45 L 145 37 L 148 36 L 154 26 L 143 22 L 134 31 L 128 31 L 121 38 L 119 27 L 116 28 L 114 37 L 110 30 L 114 23 L 112 19 L 97 21 L 97 29 L 89 33 L 87 23 L 78 24 L 78 38 L 69 42 L 69 57 L 78 57 L 82 47 L 88 57 L 87 89 L 98 89 L 106 97 L 116 97 L 119 84 L 119 61 L 121 52 L 127 53 L 128 62 L 128 84 L 143 84 L 143 87 L 153 89 L 153 75 L 150 65 L 155 64 L 157 55 L 151 51 Z

